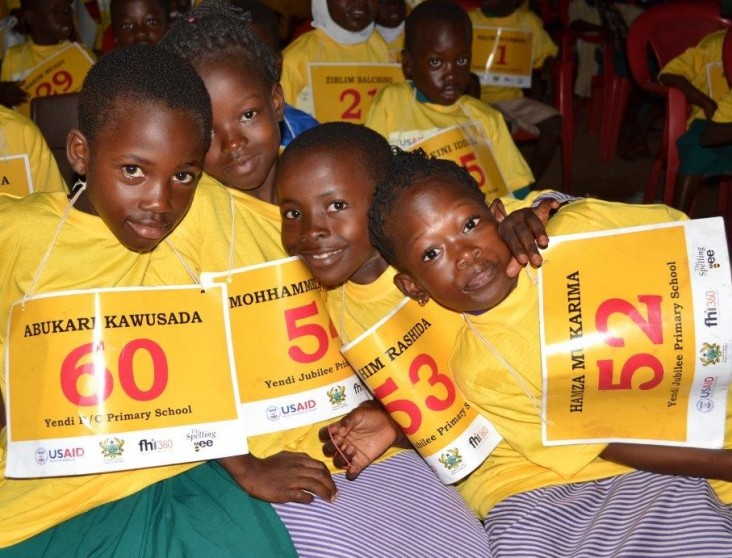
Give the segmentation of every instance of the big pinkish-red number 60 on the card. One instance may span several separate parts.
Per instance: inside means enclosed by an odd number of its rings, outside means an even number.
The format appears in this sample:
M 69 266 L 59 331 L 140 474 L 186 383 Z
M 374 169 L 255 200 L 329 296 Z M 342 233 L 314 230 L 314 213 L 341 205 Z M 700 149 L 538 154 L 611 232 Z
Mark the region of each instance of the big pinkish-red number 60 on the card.
M 133 357 L 138 350 L 148 352 L 153 363 L 153 382 L 147 391 L 141 390 L 135 382 Z M 79 378 L 85 374 L 97 376 L 93 362 L 79 365 L 79 360 L 86 355 L 104 350 L 104 343 L 86 343 L 71 351 L 61 364 L 61 391 L 66 399 L 74 405 L 99 405 L 112 393 L 114 380 L 112 373 L 103 369 L 102 379 L 98 380 L 101 390 L 93 395 L 79 393 Z M 134 339 L 122 348 L 117 363 L 120 385 L 128 397 L 136 401 L 150 401 L 159 397 L 168 385 L 168 361 L 163 349 L 150 339 Z

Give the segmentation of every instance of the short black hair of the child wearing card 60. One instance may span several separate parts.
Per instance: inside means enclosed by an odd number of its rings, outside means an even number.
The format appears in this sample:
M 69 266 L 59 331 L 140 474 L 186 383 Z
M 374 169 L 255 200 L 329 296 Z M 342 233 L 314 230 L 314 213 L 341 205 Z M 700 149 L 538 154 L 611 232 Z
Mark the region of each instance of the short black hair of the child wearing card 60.
M 94 64 L 79 95 L 79 130 L 93 143 L 114 125 L 120 103 L 158 102 L 189 113 L 200 124 L 201 139 L 211 143 L 211 99 L 193 67 L 172 52 L 150 45 L 113 50 Z

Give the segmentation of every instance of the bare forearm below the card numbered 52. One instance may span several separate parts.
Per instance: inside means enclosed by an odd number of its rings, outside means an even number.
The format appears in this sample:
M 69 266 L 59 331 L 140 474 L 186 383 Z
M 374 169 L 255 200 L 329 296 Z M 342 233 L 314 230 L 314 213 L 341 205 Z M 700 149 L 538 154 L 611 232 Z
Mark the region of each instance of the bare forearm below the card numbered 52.
M 600 457 L 619 465 L 662 475 L 732 482 L 732 450 L 650 444 L 608 444 Z

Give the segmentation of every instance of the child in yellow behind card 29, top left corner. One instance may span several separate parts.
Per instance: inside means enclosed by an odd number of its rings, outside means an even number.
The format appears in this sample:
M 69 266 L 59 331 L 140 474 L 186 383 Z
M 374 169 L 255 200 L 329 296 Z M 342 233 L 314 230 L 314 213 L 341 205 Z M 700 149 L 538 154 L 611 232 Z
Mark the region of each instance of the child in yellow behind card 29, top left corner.
M 5 82 L 5 86 L 0 92 L 5 97 L 0 98 L 0 104 L 5 106 L 15 106 L 27 99 L 18 82 L 44 60 L 65 49 L 76 34 L 71 0 L 21 0 L 20 6 L 23 29 L 30 39 L 9 48 L 2 61 L 0 82 Z M 78 44 L 94 59 L 83 43 Z

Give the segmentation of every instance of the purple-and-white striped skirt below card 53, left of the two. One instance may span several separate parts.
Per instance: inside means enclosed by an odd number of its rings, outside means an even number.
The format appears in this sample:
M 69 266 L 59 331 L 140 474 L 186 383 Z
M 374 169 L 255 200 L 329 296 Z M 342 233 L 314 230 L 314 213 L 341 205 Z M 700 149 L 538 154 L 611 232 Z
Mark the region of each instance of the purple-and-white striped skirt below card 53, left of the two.
M 335 502 L 274 504 L 300 558 L 489 556 L 478 519 L 414 451 L 333 477 Z

